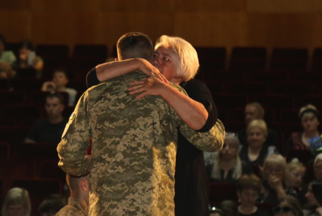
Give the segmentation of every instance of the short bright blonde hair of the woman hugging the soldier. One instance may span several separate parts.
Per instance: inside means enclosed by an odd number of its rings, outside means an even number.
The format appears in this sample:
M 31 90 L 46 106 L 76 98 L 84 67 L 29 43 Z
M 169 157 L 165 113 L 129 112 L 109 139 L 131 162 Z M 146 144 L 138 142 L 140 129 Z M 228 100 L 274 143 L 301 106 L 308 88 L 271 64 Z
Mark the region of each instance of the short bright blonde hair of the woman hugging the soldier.
M 168 48 L 174 55 L 174 62 L 177 66 L 176 78 L 182 78 L 184 81 L 194 78 L 198 72 L 199 60 L 197 51 L 189 42 L 181 37 L 162 35 L 154 49 L 160 46 Z

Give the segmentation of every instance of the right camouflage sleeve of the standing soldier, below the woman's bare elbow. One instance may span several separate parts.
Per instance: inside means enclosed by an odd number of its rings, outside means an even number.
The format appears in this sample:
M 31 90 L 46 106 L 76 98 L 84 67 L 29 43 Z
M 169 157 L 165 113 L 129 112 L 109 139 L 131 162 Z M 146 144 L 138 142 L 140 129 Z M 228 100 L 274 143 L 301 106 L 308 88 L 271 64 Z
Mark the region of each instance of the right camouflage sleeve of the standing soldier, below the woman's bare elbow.
M 183 121 L 179 125 L 179 130 L 189 142 L 202 151 L 216 152 L 223 148 L 225 128 L 219 119 L 217 119 L 216 124 L 210 131 L 205 133 L 200 133 L 191 129 Z

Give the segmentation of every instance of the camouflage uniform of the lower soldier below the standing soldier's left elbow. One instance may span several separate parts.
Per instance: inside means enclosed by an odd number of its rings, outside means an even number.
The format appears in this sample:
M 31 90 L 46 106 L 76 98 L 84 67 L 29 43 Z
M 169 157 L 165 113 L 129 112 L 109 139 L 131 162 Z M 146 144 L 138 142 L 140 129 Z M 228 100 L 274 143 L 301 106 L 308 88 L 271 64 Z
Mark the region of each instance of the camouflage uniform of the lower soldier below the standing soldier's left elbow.
M 59 210 L 55 216 L 87 216 L 88 208 L 80 200 L 69 197 L 67 205 Z

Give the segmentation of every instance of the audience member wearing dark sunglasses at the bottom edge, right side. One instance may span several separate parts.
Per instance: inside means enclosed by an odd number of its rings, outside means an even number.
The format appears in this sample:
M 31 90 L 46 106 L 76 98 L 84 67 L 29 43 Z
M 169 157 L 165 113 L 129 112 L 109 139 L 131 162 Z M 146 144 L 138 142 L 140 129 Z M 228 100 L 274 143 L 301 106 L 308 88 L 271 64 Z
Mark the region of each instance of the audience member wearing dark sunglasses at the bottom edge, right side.
M 286 196 L 273 208 L 274 216 L 303 216 L 300 203 L 295 197 Z

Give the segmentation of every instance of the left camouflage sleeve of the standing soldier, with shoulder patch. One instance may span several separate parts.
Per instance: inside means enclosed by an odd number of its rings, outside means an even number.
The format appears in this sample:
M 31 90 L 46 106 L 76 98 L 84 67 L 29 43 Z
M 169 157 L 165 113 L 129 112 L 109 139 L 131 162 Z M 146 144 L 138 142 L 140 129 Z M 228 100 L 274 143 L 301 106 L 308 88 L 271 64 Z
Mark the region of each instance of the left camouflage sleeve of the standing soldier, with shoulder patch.
M 90 126 L 87 116 L 87 98 L 85 92 L 79 99 L 74 112 L 71 114 L 62 141 L 57 146 L 59 156 L 58 166 L 66 173 L 75 176 L 89 171 L 89 159 L 85 157 L 90 144 Z

